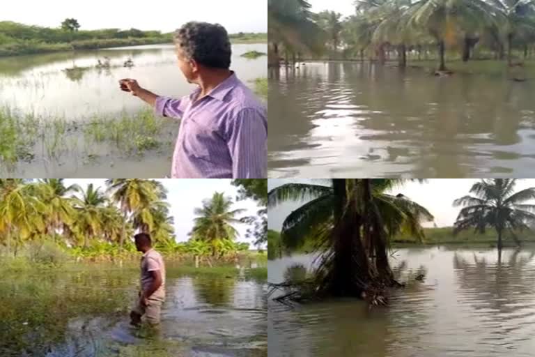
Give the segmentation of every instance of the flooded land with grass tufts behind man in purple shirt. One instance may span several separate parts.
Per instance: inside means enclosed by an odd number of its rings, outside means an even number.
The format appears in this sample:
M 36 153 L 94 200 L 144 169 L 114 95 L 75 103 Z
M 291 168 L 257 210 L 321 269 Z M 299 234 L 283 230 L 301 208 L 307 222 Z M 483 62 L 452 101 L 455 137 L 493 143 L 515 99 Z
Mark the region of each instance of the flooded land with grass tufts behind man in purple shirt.
M 232 58 L 232 69 L 264 101 L 267 58 L 242 54 L 263 53 L 265 47 L 233 45 Z M 147 45 L 0 59 L 0 176 L 169 174 L 179 121 L 155 116 L 120 91 L 118 80 L 138 79 L 164 96 L 186 95 L 194 86 L 180 73 L 173 48 Z

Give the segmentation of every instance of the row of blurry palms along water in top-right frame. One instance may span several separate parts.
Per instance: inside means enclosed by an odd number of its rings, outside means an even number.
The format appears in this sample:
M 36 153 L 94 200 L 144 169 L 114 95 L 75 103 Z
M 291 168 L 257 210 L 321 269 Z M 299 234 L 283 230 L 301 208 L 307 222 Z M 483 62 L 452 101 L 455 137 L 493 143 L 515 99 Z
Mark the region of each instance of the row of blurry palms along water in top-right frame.
M 333 11 L 312 13 L 306 0 L 269 0 L 270 64 L 329 53 L 384 64 L 394 52 L 405 67 L 409 54 L 420 60 L 433 51 L 444 71 L 447 50 L 470 61 L 478 47 L 482 56 L 507 59 L 509 65 L 516 64 L 515 50 L 524 58 L 534 50 L 532 0 L 357 0 L 354 5 L 355 15 L 342 18 Z

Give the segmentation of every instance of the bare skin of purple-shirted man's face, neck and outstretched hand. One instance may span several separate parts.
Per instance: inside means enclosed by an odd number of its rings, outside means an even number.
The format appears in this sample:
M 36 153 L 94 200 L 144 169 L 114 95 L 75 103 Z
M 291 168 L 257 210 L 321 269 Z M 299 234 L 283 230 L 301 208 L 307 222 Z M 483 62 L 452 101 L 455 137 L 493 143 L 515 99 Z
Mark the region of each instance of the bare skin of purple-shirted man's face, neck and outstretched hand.
M 187 58 L 179 47 L 176 47 L 175 52 L 178 59 L 178 68 L 182 71 L 187 82 L 197 84 L 201 88 L 201 93 L 195 100 L 205 97 L 212 89 L 232 75 L 231 70 L 209 68 L 197 63 L 194 59 Z M 121 79 L 119 86 L 122 91 L 132 93 L 133 96 L 137 96 L 154 107 L 158 95 L 139 86 L 136 79 Z

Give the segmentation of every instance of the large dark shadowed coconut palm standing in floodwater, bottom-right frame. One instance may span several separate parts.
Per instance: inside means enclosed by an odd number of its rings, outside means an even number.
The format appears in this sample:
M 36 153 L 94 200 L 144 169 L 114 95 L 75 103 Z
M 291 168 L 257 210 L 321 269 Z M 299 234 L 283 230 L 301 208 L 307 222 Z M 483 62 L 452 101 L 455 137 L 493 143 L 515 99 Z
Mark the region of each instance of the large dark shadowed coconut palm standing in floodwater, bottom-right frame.
M 401 231 L 421 239 L 422 220 L 433 216 L 403 195 L 386 193 L 399 180 L 333 179 L 330 185 L 288 183 L 271 190 L 268 206 L 308 202 L 284 220 L 281 239 L 297 248 L 316 241 L 318 296 L 362 296 L 371 285 L 394 284 L 387 260 L 389 239 Z

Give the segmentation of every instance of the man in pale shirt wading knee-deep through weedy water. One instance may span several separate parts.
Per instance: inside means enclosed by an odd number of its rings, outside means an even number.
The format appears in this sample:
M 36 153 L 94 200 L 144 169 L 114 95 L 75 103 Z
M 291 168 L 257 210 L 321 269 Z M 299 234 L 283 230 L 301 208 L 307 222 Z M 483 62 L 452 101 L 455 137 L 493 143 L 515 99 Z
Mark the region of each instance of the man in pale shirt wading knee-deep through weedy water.
M 160 323 L 160 309 L 165 300 L 165 265 L 159 252 L 152 248 L 150 236 L 139 233 L 134 236 L 141 257 L 141 291 L 136 306 L 130 312 L 130 324 L 137 325 L 145 315 L 149 324 Z

